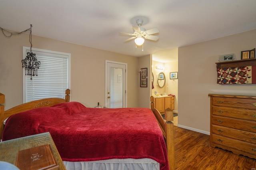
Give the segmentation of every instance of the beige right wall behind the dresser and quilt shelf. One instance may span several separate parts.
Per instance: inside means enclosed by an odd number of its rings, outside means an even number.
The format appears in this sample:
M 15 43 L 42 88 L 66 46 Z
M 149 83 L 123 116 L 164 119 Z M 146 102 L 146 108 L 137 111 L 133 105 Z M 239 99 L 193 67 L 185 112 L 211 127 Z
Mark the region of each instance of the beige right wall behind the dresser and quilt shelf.
M 219 55 L 256 47 L 256 30 L 234 34 L 178 49 L 178 126 L 209 134 L 209 93 L 256 94 L 256 85 L 217 84 L 216 62 Z

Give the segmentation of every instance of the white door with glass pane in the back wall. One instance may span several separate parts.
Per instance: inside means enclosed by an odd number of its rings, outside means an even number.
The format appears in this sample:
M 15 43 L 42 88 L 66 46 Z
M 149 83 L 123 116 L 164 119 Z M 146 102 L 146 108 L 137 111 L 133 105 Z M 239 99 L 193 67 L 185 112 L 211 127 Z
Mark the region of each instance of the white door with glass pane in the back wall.
M 126 63 L 106 61 L 107 108 L 126 107 Z

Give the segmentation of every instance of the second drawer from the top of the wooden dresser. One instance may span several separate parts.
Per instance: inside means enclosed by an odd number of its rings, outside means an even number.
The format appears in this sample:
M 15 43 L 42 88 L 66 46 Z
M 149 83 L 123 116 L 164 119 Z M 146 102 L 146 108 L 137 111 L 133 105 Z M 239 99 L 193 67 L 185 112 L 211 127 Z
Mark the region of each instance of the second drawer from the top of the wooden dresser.
M 212 114 L 217 116 L 233 117 L 256 121 L 256 110 L 240 109 L 236 107 L 212 106 Z

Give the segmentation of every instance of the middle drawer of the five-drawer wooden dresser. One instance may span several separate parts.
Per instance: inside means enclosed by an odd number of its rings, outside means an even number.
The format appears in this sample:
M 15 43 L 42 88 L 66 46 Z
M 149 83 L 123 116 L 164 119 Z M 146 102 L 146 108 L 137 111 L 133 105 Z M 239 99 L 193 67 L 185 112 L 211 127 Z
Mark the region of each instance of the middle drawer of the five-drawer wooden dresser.
M 212 124 L 256 133 L 256 123 L 253 121 L 212 116 Z

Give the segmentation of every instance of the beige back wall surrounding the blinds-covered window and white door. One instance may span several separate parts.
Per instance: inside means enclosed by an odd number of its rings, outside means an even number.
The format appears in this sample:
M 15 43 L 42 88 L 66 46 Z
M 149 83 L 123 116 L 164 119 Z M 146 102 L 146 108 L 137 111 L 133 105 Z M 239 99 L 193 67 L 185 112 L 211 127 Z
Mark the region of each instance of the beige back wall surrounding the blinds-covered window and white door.
M 71 53 L 71 100 L 86 107 L 105 104 L 105 61 L 127 63 L 127 107 L 140 106 L 138 57 L 34 35 L 32 44 L 34 48 Z M 0 34 L 0 93 L 6 95 L 5 110 L 22 104 L 22 46 L 30 47 L 29 34 L 11 38 Z M 149 67 L 147 64 L 144 67 Z

